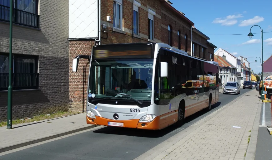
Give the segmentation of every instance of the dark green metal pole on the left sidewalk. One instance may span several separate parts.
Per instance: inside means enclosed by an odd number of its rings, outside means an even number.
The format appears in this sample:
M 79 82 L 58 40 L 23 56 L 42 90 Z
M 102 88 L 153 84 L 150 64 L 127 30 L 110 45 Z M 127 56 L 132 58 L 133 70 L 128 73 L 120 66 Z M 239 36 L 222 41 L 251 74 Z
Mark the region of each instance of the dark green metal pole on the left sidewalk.
M 10 0 L 9 14 L 9 75 L 8 75 L 8 129 L 12 128 L 12 22 L 13 22 L 13 0 Z

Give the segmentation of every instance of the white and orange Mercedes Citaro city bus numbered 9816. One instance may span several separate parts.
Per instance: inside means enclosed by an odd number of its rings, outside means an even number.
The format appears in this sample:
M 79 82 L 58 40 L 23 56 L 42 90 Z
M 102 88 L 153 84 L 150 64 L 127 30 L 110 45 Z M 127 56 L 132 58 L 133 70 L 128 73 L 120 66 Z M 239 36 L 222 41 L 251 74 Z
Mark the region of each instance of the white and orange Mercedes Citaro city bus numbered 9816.
M 87 124 L 159 130 L 219 100 L 219 66 L 164 43 L 93 46 Z

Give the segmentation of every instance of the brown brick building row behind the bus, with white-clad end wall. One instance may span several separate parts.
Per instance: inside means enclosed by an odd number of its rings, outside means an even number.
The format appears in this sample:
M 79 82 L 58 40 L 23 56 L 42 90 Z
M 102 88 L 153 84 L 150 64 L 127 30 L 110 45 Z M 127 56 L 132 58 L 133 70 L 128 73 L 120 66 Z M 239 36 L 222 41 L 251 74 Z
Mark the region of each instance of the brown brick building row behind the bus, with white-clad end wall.
M 81 60 L 76 73 L 72 62 L 78 55 L 90 55 L 93 45 L 161 42 L 208 61 L 214 60 L 216 48 L 167 0 L 69 0 L 68 40 L 69 110 L 81 111 L 86 107 L 89 62 Z

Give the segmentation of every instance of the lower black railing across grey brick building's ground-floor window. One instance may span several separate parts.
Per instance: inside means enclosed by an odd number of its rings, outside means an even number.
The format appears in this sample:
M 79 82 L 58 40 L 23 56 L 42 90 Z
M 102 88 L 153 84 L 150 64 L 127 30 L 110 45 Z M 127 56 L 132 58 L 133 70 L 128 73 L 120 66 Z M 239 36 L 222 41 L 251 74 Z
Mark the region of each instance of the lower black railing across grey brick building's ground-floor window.
M 8 90 L 9 74 L 0 73 L 0 90 Z M 38 73 L 13 73 L 13 90 L 27 90 L 39 88 Z

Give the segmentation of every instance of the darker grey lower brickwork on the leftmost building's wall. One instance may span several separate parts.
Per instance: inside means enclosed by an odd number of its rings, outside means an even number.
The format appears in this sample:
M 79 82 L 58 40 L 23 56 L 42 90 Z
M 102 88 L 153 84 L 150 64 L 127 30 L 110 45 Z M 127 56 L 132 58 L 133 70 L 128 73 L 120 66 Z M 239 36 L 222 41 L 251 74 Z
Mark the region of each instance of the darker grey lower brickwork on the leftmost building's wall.
M 68 58 L 39 56 L 39 61 L 40 90 L 13 91 L 13 119 L 68 111 Z M 0 102 L 0 121 L 5 121 L 7 91 L 0 92 Z

